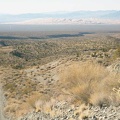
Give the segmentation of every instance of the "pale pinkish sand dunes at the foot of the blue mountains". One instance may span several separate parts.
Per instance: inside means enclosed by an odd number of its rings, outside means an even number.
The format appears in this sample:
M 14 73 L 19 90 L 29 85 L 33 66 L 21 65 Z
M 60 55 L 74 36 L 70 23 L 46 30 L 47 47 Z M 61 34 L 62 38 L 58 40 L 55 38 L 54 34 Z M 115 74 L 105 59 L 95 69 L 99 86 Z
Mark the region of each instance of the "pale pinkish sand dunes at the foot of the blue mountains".
M 8 23 L 7 23 L 8 24 Z M 12 22 L 9 24 L 120 24 L 120 20 L 98 19 L 98 18 L 82 18 L 82 19 L 65 19 L 65 18 L 37 18 L 20 22 Z

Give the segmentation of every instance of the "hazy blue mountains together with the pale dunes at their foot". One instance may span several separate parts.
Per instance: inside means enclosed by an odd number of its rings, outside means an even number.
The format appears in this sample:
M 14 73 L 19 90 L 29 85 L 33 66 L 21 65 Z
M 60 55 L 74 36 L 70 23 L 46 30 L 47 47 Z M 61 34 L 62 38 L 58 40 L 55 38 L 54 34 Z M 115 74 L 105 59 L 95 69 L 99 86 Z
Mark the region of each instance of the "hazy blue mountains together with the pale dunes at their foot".
M 120 24 L 120 11 L 0 14 L 0 24 Z

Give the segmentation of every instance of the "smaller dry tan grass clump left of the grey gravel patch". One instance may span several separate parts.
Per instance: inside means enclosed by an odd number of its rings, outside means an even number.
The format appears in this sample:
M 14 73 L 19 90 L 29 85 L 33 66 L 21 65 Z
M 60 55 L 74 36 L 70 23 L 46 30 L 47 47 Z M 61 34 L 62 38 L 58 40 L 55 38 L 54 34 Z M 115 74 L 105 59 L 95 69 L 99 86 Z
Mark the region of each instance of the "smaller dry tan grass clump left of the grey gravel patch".
M 26 102 L 21 103 L 16 110 L 16 116 L 20 117 L 28 112 L 40 112 L 43 111 L 46 103 L 49 103 L 51 100 L 49 95 L 44 95 L 39 92 L 33 92 L 33 94 L 26 99 Z M 50 106 L 50 105 L 49 105 Z

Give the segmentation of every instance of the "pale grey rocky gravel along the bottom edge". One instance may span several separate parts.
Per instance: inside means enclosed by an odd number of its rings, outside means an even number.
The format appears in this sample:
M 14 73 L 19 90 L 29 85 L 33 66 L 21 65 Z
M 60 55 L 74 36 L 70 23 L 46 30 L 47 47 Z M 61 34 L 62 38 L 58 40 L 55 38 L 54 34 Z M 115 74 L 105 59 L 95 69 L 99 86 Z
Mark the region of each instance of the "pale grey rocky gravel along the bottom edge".
M 83 113 L 77 108 L 69 108 L 54 117 L 42 112 L 32 112 L 18 120 L 120 120 L 120 106 L 88 107 Z

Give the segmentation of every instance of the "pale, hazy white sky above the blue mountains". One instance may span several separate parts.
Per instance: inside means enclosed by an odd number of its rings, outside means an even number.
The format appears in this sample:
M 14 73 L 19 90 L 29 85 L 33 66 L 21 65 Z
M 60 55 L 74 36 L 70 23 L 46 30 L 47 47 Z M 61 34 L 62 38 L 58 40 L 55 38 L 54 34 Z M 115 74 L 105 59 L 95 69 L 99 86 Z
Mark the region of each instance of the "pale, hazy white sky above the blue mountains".
M 0 0 L 0 13 L 120 10 L 120 0 Z

